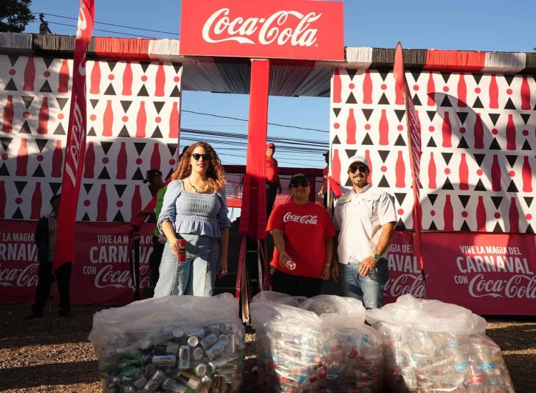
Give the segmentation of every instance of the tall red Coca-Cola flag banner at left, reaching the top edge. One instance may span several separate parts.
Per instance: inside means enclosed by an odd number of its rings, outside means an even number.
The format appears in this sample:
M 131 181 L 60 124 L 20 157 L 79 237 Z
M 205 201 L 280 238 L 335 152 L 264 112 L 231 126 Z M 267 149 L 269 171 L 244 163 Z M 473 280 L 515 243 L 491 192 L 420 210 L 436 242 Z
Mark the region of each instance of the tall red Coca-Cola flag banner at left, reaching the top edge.
M 74 261 L 74 227 L 86 153 L 86 49 L 93 34 L 94 0 L 81 0 L 74 43 L 73 84 L 65 164 L 61 182 L 60 214 L 52 271 Z

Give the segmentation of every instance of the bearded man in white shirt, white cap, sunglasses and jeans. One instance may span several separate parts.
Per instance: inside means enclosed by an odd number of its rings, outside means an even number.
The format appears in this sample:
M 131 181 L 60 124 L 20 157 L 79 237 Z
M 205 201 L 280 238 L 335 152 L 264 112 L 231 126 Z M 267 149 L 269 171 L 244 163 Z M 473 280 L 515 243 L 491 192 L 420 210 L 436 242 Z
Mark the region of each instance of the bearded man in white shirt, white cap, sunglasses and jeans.
M 332 265 L 332 275 L 341 284 L 342 296 L 374 309 L 383 306 L 383 287 L 389 279 L 387 249 L 397 215 L 394 199 L 369 184 L 369 173 L 367 158 L 352 156 L 352 190 L 339 198 L 333 217 L 339 263 Z

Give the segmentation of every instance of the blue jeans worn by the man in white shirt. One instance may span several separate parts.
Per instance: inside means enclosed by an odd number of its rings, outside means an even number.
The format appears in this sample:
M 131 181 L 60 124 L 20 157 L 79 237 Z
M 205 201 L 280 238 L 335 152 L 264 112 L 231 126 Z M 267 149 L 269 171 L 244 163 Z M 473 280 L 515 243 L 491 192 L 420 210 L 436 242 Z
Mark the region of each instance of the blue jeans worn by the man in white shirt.
M 361 300 L 366 309 L 383 306 L 383 287 L 389 279 L 387 259 L 380 259 L 366 277 L 354 269 L 355 265 L 339 264 L 339 282 L 342 296 Z

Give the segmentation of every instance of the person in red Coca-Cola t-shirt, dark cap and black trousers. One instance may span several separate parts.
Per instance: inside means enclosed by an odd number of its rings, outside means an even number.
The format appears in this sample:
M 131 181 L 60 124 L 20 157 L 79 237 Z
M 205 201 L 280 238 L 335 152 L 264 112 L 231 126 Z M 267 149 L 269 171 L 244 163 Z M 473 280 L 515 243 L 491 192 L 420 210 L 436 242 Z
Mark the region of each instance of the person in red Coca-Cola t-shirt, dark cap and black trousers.
M 277 206 L 268 220 L 274 237 L 272 291 L 313 297 L 329 279 L 335 231 L 327 210 L 309 202 L 309 179 L 290 179 L 292 199 Z

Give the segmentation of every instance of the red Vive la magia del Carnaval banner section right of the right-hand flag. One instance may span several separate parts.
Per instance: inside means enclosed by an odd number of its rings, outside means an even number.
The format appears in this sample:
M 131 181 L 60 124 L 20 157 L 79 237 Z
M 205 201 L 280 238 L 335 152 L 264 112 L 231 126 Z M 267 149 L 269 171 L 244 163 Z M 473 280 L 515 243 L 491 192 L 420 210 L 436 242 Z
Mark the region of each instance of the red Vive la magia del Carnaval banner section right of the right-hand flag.
M 478 314 L 536 315 L 533 235 L 422 234 L 427 294 Z

